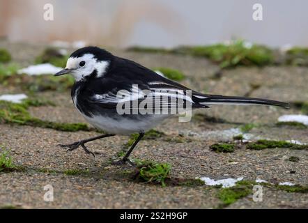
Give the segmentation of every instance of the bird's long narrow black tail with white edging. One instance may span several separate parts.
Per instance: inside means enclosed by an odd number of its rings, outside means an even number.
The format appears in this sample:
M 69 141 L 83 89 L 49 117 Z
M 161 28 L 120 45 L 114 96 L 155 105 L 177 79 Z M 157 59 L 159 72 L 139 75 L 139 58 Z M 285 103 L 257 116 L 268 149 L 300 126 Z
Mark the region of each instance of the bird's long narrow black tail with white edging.
M 233 97 L 224 95 L 206 95 L 206 98 L 201 98 L 200 95 L 195 96 L 198 98 L 201 105 L 274 105 L 289 108 L 289 105 L 286 102 L 263 98 Z

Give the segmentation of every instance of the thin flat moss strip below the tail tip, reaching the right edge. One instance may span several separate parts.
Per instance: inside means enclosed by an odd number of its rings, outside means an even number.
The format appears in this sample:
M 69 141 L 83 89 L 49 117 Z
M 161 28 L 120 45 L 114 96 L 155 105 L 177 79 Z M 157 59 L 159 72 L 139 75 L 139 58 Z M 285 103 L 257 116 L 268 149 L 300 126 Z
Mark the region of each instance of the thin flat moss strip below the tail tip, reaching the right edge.
M 293 144 L 288 141 L 275 141 L 260 139 L 256 142 L 250 142 L 247 144 L 247 148 L 254 150 L 262 150 L 265 148 L 290 148 L 290 149 L 308 149 L 307 145 Z

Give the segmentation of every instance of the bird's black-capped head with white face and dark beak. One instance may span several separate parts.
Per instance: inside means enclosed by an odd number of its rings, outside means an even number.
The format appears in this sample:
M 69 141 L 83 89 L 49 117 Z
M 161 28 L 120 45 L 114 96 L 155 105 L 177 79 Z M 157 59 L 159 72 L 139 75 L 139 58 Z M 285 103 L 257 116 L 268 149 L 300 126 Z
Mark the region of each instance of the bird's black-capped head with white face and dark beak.
M 77 82 L 89 77 L 102 77 L 107 71 L 113 55 L 99 47 L 84 47 L 77 49 L 70 55 L 66 68 L 57 72 L 55 76 L 70 73 Z

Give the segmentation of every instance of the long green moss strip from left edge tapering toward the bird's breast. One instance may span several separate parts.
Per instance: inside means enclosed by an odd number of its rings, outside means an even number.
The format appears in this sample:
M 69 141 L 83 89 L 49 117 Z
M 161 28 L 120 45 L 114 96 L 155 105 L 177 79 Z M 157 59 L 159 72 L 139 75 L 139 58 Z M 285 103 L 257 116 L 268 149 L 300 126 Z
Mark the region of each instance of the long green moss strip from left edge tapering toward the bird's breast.
M 32 105 L 31 105 L 32 104 Z M 31 125 L 40 128 L 52 128 L 55 130 L 75 132 L 79 130 L 88 131 L 89 128 L 84 123 L 56 123 L 43 121 L 31 116 L 28 112 L 29 105 L 37 105 L 40 102 L 26 101 L 22 104 L 0 101 L 0 123 L 14 123 L 18 125 Z

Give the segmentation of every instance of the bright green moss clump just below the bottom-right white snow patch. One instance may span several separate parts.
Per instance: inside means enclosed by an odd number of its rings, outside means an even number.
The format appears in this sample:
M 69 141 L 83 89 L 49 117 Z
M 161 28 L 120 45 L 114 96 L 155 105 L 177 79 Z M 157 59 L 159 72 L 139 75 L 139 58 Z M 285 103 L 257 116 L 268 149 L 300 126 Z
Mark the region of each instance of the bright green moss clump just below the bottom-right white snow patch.
M 219 190 L 217 197 L 224 203 L 230 205 L 243 197 L 252 194 L 252 188 L 247 185 L 236 185 L 234 187 L 222 188 Z

